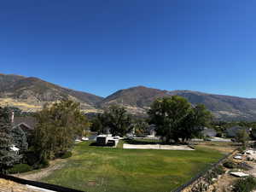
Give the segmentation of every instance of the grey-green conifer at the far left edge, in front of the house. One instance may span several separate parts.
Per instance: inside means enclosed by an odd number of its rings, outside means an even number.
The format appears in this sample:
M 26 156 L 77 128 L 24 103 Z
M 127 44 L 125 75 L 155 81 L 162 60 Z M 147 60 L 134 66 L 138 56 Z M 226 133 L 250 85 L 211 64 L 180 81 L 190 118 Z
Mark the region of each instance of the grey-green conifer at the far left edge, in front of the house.
M 19 155 L 10 151 L 13 146 L 10 129 L 10 110 L 0 107 L 0 172 L 5 172 L 7 168 L 20 160 Z

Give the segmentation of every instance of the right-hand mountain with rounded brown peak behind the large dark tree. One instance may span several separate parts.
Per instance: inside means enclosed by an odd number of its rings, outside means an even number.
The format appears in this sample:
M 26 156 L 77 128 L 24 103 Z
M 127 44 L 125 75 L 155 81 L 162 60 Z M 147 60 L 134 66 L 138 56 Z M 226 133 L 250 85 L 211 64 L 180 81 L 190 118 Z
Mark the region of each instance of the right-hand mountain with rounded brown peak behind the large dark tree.
M 137 86 L 113 93 L 103 99 L 100 106 L 104 108 L 111 104 L 122 104 L 131 113 L 145 113 L 156 98 L 175 95 L 187 98 L 194 105 L 205 104 L 217 119 L 256 120 L 256 99 L 219 96 L 190 90 L 167 91 Z

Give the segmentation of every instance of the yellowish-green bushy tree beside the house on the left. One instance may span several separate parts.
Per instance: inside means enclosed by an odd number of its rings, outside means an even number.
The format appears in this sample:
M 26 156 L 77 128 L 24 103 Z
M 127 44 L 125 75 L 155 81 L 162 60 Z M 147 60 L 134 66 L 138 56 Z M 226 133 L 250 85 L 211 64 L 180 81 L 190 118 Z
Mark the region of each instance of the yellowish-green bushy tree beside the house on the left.
M 44 106 L 36 114 L 38 125 L 34 132 L 34 148 L 40 159 L 54 159 L 73 146 L 74 139 L 82 136 L 89 127 L 79 108 L 79 103 L 70 100 Z

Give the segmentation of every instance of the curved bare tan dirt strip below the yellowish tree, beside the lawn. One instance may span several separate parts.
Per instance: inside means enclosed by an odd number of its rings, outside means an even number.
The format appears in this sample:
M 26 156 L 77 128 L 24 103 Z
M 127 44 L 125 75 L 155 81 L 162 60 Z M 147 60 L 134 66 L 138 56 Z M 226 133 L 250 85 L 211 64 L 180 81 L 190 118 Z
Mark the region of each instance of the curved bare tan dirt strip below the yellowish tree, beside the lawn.
M 55 172 L 55 170 L 61 169 L 65 165 L 67 160 L 58 159 L 49 162 L 49 167 L 38 170 L 38 172 L 26 172 L 22 174 L 16 174 L 15 177 L 24 178 L 27 180 L 38 181 L 44 177 L 49 176 L 50 173 Z

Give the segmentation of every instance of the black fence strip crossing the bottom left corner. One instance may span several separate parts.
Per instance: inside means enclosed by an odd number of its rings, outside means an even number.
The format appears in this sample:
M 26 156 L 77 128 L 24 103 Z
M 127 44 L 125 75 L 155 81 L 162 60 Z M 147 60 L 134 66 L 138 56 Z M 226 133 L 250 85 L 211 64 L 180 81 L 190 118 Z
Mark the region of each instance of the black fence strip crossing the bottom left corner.
M 4 178 L 6 180 L 10 180 L 13 181 L 15 183 L 20 183 L 20 184 L 28 184 L 28 185 L 32 185 L 34 187 L 38 187 L 38 188 L 42 188 L 42 189 L 49 189 L 49 190 L 53 190 L 53 191 L 59 191 L 59 192 L 84 192 L 81 190 L 76 190 L 76 189 L 68 189 L 65 187 L 61 187 L 55 184 L 49 184 L 49 183 L 41 183 L 41 182 L 36 182 L 36 181 L 29 181 L 23 178 L 18 178 L 18 177 L 13 177 L 13 176 L 9 176 L 9 175 L 4 175 L 4 174 L 0 174 L 0 178 Z M 2 192 L 2 191 L 0 191 Z

